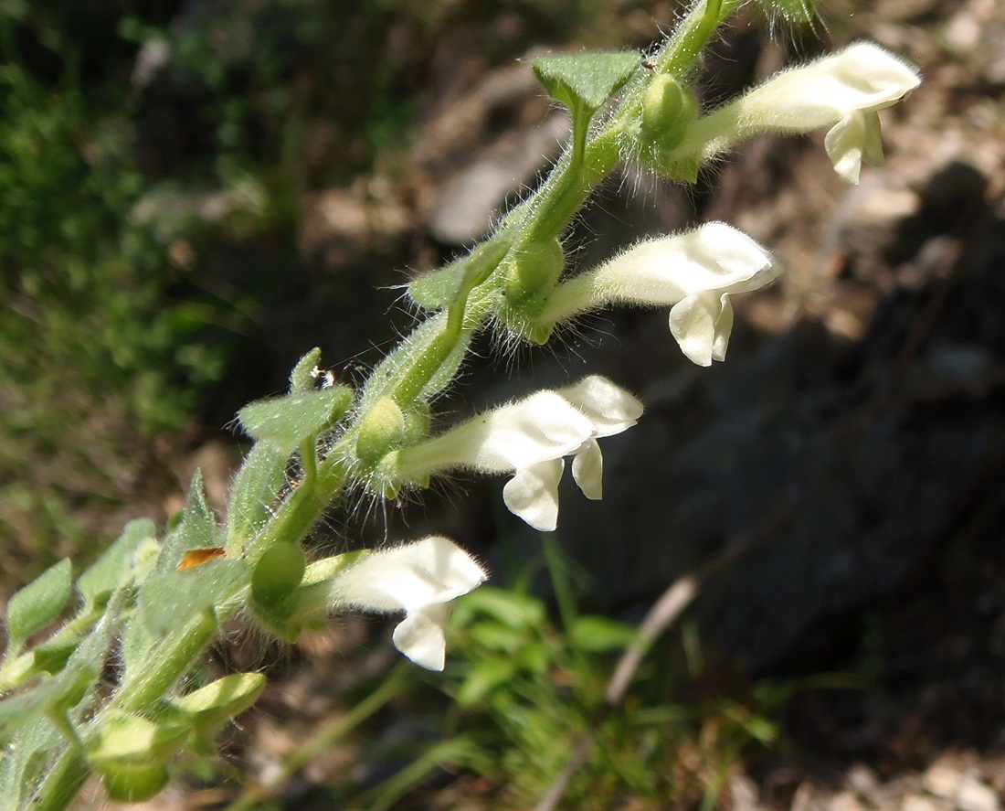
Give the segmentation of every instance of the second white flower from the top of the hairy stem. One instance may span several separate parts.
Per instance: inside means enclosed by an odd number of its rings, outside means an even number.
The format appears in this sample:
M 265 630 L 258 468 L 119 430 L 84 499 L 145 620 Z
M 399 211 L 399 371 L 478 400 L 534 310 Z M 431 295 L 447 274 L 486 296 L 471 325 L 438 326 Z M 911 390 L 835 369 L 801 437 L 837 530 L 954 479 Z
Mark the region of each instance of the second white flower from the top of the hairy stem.
M 694 363 L 723 360 L 733 329 L 730 295 L 756 290 L 782 271 L 754 239 L 724 222 L 640 242 L 554 291 L 546 326 L 613 303 L 670 305 L 670 332 Z

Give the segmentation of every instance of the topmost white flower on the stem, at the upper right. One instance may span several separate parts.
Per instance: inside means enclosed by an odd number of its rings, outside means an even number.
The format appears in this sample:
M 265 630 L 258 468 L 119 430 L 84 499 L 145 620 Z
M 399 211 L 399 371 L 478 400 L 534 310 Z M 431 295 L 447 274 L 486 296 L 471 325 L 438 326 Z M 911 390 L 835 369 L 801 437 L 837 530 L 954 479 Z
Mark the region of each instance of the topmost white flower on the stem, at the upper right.
M 870 166 L 883 162 L 877 112 L 896 104 L 921 82 L 910 62 L 871 42 L 856 42 L 779 73 L 695 122 L 678 150 L 696 147 L 709 158 L 759 132 L 809 132 L 830 126 L 824 146 L 834 169 L 857 183 L 863 161 Z

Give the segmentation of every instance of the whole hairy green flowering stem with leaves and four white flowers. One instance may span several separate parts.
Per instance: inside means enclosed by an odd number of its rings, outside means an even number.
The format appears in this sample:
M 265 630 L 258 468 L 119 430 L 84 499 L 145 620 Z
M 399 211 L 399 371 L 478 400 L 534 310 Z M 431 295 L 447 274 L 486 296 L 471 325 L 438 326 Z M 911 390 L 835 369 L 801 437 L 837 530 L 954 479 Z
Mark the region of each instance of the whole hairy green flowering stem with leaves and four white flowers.
M 772 13 L 811 13 L 802 2 L 758 2 Z M 459 470 L 501 474 L 506 506 L 549 531 L 560 520 L 558 484 L 568 460 L 583 495 L 601 497 L 603 440 L 631 428 L 642 402 L 588 375 L 433 431 L 437 395 L 472 337 L 488 329 L 506 338 L 499 345 L 545 344 L 586 313 L 657 307 L 689 360 L 724 360 L 731 298 L 782 271 L 765 248 L 711 222 L 571 273 L 563 247 L 571 217 L 621 161 L 690 183 L 710 161 L 766 132 L 826 129 L 834 170 L 855 183 L 863 163 L 882 163 L 879 112 L 920 83 L 903 59 L 857 42 L 701 110 L 693 91 L 700 53 L 740 4 L 694 3 L 651 54 L 536 59 L 538 78 L 568 108 L 571 143 L 491 236 L 409 286 L 425 319 L 365 384 L 357 390 L 326 380 L 320 352 L 309 352 L 286 395 L 238 415 L 254 444 L 225 520 L 208 508 L 197 475 L 167 530 L 135 521 L 89 569 L 74 576 L 62 560 L 14 595 L 0 667 L 5 807 L 66 808 L 91 774 L 111 797 L 144 800 L 165 787 L 180 752 L 211 752 L 214 735 L 264 685 L 258 673 L 198 688 L 186 680 L 221 624 L 234 618 L 295 640 L 333 612 L 400 614 L 394 645 L 417 665 L 441 669 L 451 602 L 477 588 L 485 571 L 438 535 L 309 559 L 306 536 L 345 499 L 393 500 Z M 66 616 L 44 641 L 28 644 Z

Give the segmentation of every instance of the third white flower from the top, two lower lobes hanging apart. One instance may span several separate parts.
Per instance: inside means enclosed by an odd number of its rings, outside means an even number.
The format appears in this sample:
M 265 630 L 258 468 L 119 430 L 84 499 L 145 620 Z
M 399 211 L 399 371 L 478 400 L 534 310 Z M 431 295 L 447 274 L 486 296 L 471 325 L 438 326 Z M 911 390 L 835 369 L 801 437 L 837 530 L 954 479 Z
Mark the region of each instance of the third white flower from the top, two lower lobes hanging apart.
M 642 403 L 599 375 L 574 385 L 538 391 L 399 451 L 396 471 L 421 479 L 451 468 L 515 472 L 502 489 L 507 507 L 545 532 L 558 524 L 558 486 L 565 457 L 587 498 L 602 494 L 603 460 L 597 438 L 635 425 Z

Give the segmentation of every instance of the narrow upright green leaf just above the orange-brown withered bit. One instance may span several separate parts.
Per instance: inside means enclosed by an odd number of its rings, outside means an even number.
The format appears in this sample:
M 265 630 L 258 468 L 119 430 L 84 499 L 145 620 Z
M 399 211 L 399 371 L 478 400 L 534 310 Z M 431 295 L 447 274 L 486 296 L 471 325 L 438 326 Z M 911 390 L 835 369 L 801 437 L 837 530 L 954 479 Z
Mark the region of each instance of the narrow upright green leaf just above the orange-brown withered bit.
M 266 442 L 255 443 L 244 457 L 230 492 L 228 548 L 237 545 L 237 538 L 250 541 L 271 517 L 270 507 L 286 481 L 288 459 L 288 454 Z

